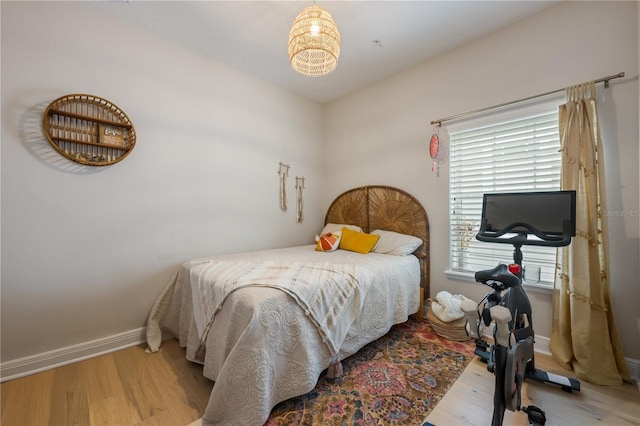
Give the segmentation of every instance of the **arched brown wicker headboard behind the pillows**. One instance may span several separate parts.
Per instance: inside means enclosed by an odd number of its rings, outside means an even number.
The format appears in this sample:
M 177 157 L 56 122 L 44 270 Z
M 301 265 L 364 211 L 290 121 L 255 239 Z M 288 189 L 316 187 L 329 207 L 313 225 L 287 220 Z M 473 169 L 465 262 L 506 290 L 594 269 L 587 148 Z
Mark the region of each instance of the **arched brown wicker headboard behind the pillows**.
M 333 200 L 324 223 L 358 225 L 364 232 L 376 229 L 413 235 L 423 241 L 414 255 L 420 261 L 421 287 L 424 298 L 429 294 L 429 219 L 422 204 L 411 194 L 390 186 L 353 188 Z

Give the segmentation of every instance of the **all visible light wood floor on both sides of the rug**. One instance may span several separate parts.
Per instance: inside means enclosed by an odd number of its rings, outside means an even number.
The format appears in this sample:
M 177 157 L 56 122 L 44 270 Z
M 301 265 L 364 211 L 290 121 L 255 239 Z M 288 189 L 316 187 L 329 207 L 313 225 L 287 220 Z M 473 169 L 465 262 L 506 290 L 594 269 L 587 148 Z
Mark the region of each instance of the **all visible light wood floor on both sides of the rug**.
M 538 368 L 566 375 L 550 357 L 536 355 Z M 136 346 L 0 385 L 2 426 L 167 425 L 199 419 L 213 383 L 185 360 L 177 341 L 156 354 Z M 436 426 L 490 425 L 494 377 L 476 357 L 427 421 Z M 635 385 L 600 387 L 581 382 L 581 392 L 525 382 L 523 405 L 541 407 L 547 425 L 640 426 Z M 505 426 L 528 425 L 525 413 L 505 414 Z

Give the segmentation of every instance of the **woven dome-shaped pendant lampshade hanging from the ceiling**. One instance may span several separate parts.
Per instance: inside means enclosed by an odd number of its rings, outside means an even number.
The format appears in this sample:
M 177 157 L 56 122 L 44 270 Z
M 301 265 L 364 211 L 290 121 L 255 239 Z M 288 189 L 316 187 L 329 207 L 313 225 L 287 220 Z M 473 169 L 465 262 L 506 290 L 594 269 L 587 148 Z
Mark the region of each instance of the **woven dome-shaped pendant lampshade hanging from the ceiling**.
M 329 12 L 313 5 L 296 18 L 289 32 L 289 59 L 294 70 L 309 77 L 331 73 L 340 56 L 340 33 Z

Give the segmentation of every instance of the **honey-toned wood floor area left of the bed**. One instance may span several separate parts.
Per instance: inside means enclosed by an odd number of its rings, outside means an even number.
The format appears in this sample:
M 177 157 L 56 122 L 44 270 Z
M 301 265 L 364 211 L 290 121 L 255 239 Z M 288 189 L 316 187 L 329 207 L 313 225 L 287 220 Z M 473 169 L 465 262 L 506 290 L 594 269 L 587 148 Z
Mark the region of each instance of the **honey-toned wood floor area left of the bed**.
M 174 339 L 134 346 L 0 385 L 2 426 L 166 425 L 200 418 L 213 382 Z

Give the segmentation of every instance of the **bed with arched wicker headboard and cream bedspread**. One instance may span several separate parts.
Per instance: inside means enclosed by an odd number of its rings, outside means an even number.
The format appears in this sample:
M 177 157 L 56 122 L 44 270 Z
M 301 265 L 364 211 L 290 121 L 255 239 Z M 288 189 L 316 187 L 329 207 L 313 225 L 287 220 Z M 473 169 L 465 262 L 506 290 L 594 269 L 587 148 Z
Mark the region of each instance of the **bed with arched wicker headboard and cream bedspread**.
M 193 259 L 180 265 L 155 302 L 148 351 L 175 337 L 215 382 L 203 424 L 262 425 L 277 403 L 311 391 L 323 372 L 339 375 L 341 360 L 394 324 L 410 315 L 422 319 L 429 225 L 416 198 L 389 186 L 354 188 L 331 203 L 327 224 L 391 231 L 422 244 L 408 255 L 322 252 L 309 244 Z M 295 277 L 293 284 L 271 285 L 284 276 Z M 328 288 L 321 296 L 318 281 Z M 316 290 L 305 295 L 293 288 L 300 283 Z M 221 287 L 225 292 L 216 293 Z

